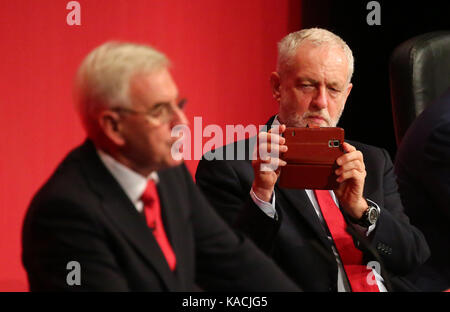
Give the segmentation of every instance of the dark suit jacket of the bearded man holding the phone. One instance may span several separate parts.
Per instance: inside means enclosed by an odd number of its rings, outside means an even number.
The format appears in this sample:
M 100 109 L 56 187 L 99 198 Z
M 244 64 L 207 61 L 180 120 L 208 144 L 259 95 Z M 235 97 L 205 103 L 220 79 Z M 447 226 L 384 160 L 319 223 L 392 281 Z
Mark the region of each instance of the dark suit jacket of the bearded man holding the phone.
M 386 271 L 406 274 L 427 259 L 429 250 L 423 235 L 409 224 L 403 213 L 388 153 L 361 143 L 349 143 L 364 155 L 368 173 L 364 196 L 381 208 L 370 239 L 359 237 L 365 260 L 381 258 L 385 265 L 383 276 L 387 276 Z M 279 219 L 267 217 L 249 195 L 254 174 L 248 156 L 254 140 L 247 140 L 246 144 L 250 145 L 246 160 L 201 160 L 197 184 L 219 214 L 245 231 L 300 287 L 306 291 L 335 291 L 337 264 L 327 229 L 320 223 L 306 192 L 275 185 Z M 223 151 L 221 148 L 214 153 L 220 155 Z

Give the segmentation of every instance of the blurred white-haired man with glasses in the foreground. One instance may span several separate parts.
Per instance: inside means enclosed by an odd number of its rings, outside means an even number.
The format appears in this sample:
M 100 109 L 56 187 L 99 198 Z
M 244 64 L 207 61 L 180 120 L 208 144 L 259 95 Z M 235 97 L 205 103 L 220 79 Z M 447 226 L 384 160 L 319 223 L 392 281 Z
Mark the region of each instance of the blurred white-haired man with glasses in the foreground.
M 38 191 L 23 226 L 32 291 L 298 290 L 210 207 L 171 136 L 186 125 L 169 61 L 109 42 L 79 68 L 87 140 Z

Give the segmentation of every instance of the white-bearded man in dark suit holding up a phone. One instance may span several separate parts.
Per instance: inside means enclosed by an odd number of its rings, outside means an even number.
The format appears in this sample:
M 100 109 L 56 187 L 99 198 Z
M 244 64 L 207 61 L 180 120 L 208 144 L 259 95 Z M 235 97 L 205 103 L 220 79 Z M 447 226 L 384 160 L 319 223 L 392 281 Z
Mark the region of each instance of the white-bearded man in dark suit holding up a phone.
M 353 86 L 352 74 L 352 52 L 337 35 L 319 28 L 287 35 L 270 76 L 279 113 L 267 126 L 279 126 L 280 134 L 286 126 L 335 127 Z M 258 138 L 262 150 L 287 151 L 285 139 L 272 130 Z M 249 142 L 252 146 L 254 140 Z M 399 289 L 400 279 L 386 277 L 423 263 L 428 246 L 403 213 L 388 153 L 352 141 L 343 149 L 336 161 L 339 187 L 331 191 L 280 187 L 277 179 L 286 163 L 277 157 L 205 157 L 196 181 L 218 213 L 244 230 L 304 290 Z M 278 169 L 262 171 L 261 164 Z

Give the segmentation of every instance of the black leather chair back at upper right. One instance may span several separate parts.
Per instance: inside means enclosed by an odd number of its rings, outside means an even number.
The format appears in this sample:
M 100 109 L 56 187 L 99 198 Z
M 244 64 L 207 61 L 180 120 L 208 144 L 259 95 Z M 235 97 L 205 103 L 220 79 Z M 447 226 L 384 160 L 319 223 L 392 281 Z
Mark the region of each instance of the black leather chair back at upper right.
M 397 145 L 418 115 L 450 86 L 450 31 L 423 34 L 400 44 L 389 62 Z

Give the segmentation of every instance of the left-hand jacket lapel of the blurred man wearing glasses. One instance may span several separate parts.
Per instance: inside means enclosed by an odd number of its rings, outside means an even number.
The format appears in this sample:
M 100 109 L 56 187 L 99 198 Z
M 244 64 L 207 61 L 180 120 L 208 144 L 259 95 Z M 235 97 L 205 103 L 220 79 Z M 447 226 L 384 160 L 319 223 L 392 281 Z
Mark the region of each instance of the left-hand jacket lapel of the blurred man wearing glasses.
M 102 198 L 105 215 L 111 219 L 145 260 L 155 268 L 168 290 L 177 290 L 176 276 L 167 265 L 145 218 L 139 214 L 118 182 L 103 165 L 97 156 L 94 145 L 87 141 L 82 148 L 87 156 L 82 161 L 84 174 L 88 177 L 93 190 Z

